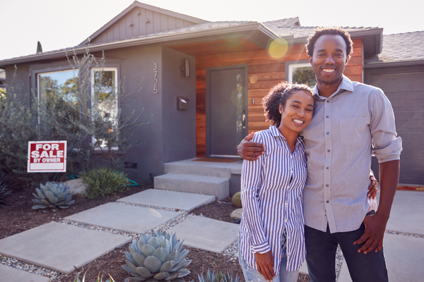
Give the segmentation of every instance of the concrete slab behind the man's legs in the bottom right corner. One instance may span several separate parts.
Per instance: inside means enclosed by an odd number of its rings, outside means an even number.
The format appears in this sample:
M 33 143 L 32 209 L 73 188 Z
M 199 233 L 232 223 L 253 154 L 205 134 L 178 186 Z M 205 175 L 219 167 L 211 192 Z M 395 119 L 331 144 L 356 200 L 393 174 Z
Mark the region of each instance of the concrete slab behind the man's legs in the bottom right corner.
M 383 245 L 389 281 L 423 281 L 423 238 L 386 233 L 384 234 Z M 352 282 L 348 266 L 344 260 L 337 282 Z

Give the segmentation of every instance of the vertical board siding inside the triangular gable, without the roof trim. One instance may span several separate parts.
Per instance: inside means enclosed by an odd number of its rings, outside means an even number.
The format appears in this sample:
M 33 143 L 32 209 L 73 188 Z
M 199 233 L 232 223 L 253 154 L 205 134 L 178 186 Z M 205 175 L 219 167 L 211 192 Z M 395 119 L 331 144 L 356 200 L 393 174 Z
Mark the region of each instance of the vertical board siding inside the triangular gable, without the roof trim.
M 131 37 L 150 35 L 155 32 L 175 30 L 176 28 L 187 27 L 189 25 L 196 25 L 196 23 L 136 7 L 95 37 L 91 43 L 112 42 Z

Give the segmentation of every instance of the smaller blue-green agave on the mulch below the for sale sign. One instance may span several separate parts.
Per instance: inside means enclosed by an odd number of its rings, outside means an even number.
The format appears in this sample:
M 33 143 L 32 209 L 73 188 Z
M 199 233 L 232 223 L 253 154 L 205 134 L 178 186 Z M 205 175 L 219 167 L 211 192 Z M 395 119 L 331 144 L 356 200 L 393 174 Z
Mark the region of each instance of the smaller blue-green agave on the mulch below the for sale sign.
M 47 182 L 46 185 L 40 184 L 40 189 L 35 188 L 37 194 L 33 193 L 36 199 L 33 199 L 35 205 L 33 209 L 46 209 L 52 207 L 56 211 L 57 207 L 60 209 L 67 209 L 74 200 L 71 200 L 73 193 L 69 193 L 69 186 L 64 183 Z

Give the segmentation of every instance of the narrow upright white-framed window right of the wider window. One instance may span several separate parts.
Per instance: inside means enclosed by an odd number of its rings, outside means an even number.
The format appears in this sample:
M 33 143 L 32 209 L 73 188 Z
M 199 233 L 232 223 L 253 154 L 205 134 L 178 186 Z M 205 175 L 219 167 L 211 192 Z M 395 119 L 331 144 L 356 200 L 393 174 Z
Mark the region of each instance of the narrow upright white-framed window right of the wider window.
M 117 85 L 117 68 L 91 69 L 91 118 L 96 132 L 92 142 L 100 147 L 108 147 L 117 138 Z

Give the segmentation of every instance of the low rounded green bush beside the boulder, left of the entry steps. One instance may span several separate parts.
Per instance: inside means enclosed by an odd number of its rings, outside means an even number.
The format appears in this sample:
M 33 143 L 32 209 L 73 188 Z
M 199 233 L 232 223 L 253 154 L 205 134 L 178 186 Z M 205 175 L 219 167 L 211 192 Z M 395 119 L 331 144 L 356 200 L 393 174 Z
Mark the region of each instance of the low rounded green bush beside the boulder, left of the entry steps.
M 129 186 L 129 179 L 123 173 L 102 166 L 82 173 L 81 178 L 90 187 L 86 196 L 88 199 L 124 192 Z

